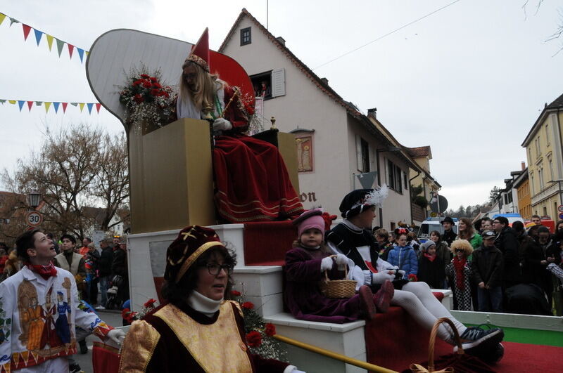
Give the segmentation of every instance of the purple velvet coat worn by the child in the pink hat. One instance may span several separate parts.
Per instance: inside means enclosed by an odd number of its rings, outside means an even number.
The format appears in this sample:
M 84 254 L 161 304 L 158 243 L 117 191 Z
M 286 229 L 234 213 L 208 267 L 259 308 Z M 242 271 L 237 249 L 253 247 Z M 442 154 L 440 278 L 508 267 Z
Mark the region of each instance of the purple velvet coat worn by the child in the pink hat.
M 284 299 L 287 308 L 299 320 L 318 322 L 355 321 L 360 318 L 360 296 L 350 299 L 327 298 L 320 291 L 322 259 L 312 259 L 306 249 L 294 247 L 286 253 Z M 344 273 L 333 261 L 329 278 L 342 280 Z

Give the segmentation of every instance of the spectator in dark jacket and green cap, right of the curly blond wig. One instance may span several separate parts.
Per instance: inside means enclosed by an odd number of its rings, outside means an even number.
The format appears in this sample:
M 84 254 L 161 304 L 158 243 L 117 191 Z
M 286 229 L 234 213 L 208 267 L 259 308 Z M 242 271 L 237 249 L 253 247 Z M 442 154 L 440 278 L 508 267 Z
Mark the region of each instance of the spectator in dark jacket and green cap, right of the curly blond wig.
M 477 284 L 479 312 L 502 312 L 502 253 L 495 247 L 495 233 L 483 232 L 483 244 L 473 251 L 472 277 Z

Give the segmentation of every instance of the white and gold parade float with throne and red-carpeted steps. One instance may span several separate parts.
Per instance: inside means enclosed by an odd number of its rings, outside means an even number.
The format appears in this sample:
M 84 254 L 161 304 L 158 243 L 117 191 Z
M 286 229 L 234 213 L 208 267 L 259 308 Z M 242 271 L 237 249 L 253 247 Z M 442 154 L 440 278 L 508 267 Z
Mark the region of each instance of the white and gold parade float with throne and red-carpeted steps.
M 370 322 L 345 324 L 296 320 L 284 311 L 281 266 L 285 251 L 296 237 L 295 228 L 289 221 L 220 223 L 214 204 L 210 124 L 201 119 L 170 122 L 174 117 L 167 110 L 172 107 L 172 86 L 179 81 L 180 67 L 193 46 L 136 30 L 111 30 L 96 39 L 87 59 L 92 91 L 127 132 L 132 214 L 127 247 L 132 309 L 143 309 L 148 299 L 160 299 L 166 249 L 179 230 L 187 225 L 205 225 L 217 231 L 236 252 L 236 290 L 245 301 L 253 303 L 263 320 L 275 325 L 288 360 L 300 369 L 394 372 L 406 369 L 412 362 L 427 360 L 429 333 L 402 308 L 392 307 Z M 243 68 L 221 53 L 210 51 L 209 58 L 211 72 L 239 87 L 246 110 L 253 112 L 253 86 Z M 148 96 L 135 91 L 134 87 L 144 84 L 150 88 Z M 151 112 L 148 106 L 141 109 L 143 105 L 139 104 L 147 98 L 163 110 Z M 253 129 L 253 136 L 277 146 L 291 185 L 298 192 L 293 135 L 279 133 L 274 120 L 271 126 Z M 244 179 L 238 182 L 244 183 Z M 436 291 L 436 296 L 450 308 L 449 290 Z M 553 365 L 543 361 L 561 354 L 562 318 L 452 313 L 467 324 L 505 329 L 505 358 L 495 367 L 499 372 L 549 371 L 546 367 Z M 451 346 L 436 341 L 435 353 L 451 353 Z

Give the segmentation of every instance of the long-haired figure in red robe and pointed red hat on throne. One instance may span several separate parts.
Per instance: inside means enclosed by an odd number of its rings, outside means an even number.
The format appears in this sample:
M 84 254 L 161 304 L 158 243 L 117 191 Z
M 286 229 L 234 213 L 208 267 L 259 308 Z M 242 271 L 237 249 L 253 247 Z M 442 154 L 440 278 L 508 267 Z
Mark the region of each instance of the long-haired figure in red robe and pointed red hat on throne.
M 230 223 L 245 223 L 301 214 L 303 205 L 291 185 L 279 151 L 270 143 L 243 134 L 248 129 L 248 110 L 242 103 L 241 93 L 210 75 L 208 61 L 208 32 L 205 30 L 182 67 L 177 117 L 204 117 L 202 109 L 194 104 L 192 95 L 196 93 L 191 92 L 202 90 L 196 85 L 203 79 L 198 74 L 213 79 L 215 95 L 210 115 L 215 119 L 213 129 L 222 130 L 222 136 L 215 137 L 213 149 L 215 205 L 220 216 Z M 200 103 L 200 106 L 203 105 Z

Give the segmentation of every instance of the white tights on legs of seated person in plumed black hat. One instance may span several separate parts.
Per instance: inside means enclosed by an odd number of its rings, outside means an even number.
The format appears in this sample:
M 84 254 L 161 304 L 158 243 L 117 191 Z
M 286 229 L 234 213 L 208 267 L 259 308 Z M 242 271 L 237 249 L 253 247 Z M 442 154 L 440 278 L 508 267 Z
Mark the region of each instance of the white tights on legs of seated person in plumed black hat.
M 395 291 L 391 304 L 402 307 L 419 325 L 428 331 L 432 329 L 439 318 L 452 320 L 460 335 L 467 329 L 461 322 L 455 320 L 443 304 L 436 299 L 426 282 L 408 282 L 403 286 L 403 290 Z M 451 345 L 455 344 L 449 326 L 441 324 L 438 327 L 437 335 L 443 341 Z

